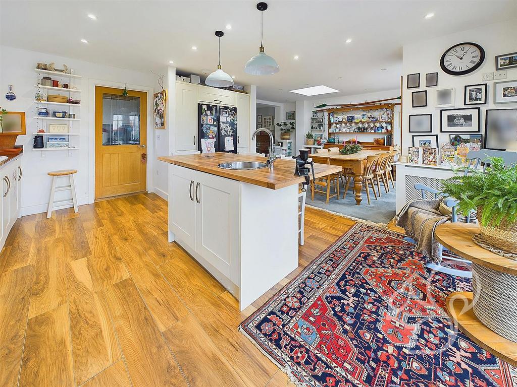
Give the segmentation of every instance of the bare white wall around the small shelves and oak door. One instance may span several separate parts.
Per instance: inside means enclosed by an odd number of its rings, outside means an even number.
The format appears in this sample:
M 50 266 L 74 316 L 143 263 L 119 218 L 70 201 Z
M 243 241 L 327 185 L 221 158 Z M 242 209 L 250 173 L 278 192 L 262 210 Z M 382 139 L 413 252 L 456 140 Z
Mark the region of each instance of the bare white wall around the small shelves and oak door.
M 33 151 L 32 133 L 37 132 L 37 120 L 33 119 L 36 115 L 37 104 L 34 103 L 37 81 L 37 73 L 34 71 L 36 62 L 50 63 L 55 62 L 57 68 L 61 68 L 63 63 L 69 68 L 74 69 L 75 74 L 82 75 L 82 78 L 75 81 L 75 85 L 82 90 L 81 94 L 74 94 L 81 98 L 81 107 L 74 107 L 74 112 L 81 121 L 75 121 L 72 131 L 79 132 L 76 143 L 79 150 L 45 152 L 41 157 L 40 151 Z M 23 156 L 21 165 L 23 169 L 23 188 L 21 195 L 21 214 L 34 214 L 46 211 L 50 196 L 51 179 L 47 172 L 58 169 L 77 169 L 75 175 L 75 185 L 79 204 L 93 201 L 94 182 L 94 87 L 93 85 L 105 85 L 112 87 L 123 87 L 127 83 L 128 89 L 148 91 L 148 190 L 153 190 L 153 173 L 150 173 L 155 162 L 153 151 L 153 115 L 151 102 L 154 89 L 157 88 L 156 77 L 150 72 L 141 73 L 115 67 L 98 65 L 81 60 L 58 57 L 34 51 L 21 50 L 8 46 L 0 46 L 0 91 L 4 94 L 7 85 L 12 84 L 16 100 L 7 101 L 2 98 L 2 107 L 8 111 L 24 111 L 26 118 L 25 136 L 19 136 L 17 145 L 23 145 Z M 49 105 L 49 111 L 57 110 L 57 106 Z M 72 121 L 71 121 L 72 122 Z M 161 131 L 164 132 L 164 131 Z

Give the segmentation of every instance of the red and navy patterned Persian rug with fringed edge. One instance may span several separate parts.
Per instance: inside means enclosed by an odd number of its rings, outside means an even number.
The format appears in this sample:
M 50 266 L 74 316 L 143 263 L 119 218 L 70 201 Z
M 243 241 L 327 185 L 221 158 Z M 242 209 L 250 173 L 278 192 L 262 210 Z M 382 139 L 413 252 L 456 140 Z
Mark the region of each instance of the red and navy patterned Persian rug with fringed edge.
M 471 280 L 430 272 L 402 238 L 356 224 L 240 331 L 300 387 L 517 387 L 445 311 Z

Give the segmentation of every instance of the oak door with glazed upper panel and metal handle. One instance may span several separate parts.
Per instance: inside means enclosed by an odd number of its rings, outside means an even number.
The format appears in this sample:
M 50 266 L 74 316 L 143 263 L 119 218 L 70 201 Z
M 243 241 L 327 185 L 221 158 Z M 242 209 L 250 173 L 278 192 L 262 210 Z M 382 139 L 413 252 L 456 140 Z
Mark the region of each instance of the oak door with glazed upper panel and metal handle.
M 147 93 L 95 87 L 95 199 L 146 190 Z

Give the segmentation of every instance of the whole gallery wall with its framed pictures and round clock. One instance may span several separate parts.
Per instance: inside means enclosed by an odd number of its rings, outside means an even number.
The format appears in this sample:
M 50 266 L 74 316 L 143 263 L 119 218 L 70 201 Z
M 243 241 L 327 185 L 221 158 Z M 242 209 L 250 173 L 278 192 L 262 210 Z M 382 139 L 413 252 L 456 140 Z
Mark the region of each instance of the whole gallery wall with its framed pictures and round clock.
M 439 164 L 461 162 L 469 149 L 517 150 L 517 42 L 511 25 L 404 45 L 403 154 L 418 153 L 421 160 L 429 150 L 410 148 L 433 148 Z

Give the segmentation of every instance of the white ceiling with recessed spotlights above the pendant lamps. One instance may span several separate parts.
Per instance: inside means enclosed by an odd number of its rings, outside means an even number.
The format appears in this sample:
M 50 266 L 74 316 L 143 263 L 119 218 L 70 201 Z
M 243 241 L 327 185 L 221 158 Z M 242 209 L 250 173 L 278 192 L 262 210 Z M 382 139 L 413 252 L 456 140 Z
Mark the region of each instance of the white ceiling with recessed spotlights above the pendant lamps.
M 235 75 L 237 84 L 257 85 L 258 99 L 292 102 L 311 98 L 288 90 L 315 85 L 341 91 L 328 96 L 397 89 L 403 44 L 517 15 L 515 0 L 270 0 L 264 12 L 264 46 L 280 72 L 258 77 L 244 72 L 260 45 L 255 4 L 0 0 L 0 42 L 145 72 L 163 72 L 173 60 L 179 70 L 200 74 L 216 68 L 214 31 L 222 29 L 223 70 Z M 429 12 L 435 17 L 424 20 Z M 88 13 L 97 20 L 89 19 Z M 232 29 L 226 30 L 226 24 Z M 345 43 L 347 38 L 352 42 Z

